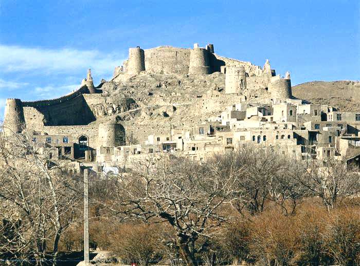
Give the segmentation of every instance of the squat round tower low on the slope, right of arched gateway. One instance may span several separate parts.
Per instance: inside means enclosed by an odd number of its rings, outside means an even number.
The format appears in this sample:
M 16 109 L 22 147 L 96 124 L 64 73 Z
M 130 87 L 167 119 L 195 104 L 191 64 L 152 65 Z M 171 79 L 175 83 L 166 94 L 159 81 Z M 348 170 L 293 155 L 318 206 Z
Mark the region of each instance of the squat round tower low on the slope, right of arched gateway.
M 102 147 L 117 147 L 125 144 L 125 129 L 120 124 L 99 125 L 99 144 Z

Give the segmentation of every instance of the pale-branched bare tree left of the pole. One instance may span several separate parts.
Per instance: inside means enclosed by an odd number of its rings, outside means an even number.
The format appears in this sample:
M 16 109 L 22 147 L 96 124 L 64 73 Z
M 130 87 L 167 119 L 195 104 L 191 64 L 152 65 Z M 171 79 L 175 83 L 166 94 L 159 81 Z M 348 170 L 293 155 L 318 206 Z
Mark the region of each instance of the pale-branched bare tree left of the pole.
M 1 216 L 7 226 L 11 224 L 15 244 L 2 248 L 10 259 L 25 256 L 41 263 L 50 250 L 56 260 L 61 234 L 76 217 L 79 179 L 50 157 L 50 149 L 33 143 L 26 130 L 21 135 L 2 135 L 0 202 L 6 210 Z

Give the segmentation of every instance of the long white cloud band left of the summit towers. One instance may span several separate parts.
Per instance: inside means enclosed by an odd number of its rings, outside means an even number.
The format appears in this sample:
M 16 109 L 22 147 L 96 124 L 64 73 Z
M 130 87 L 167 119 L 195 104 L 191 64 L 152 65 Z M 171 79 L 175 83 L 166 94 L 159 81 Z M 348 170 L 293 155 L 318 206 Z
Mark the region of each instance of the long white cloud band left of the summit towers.
M 124 54 L 71 48 L 44 49 L 0 45 L 0 71 L 41 71 L 66 73 L 91 67 L 96 74 L 112 73 L 121 65 Z

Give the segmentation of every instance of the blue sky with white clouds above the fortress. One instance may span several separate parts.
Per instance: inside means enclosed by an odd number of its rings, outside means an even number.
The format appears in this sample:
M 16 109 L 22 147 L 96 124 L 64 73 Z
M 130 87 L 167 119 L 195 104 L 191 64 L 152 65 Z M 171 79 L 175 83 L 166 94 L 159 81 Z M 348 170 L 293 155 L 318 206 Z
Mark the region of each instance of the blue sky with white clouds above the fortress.
M 109 80 L 129 47 L 190 48 L 291 72 L 292 84 L 359 80 L 358 0 L 0 0 L 0 113 L 7 98 L 51 99 L 87 68 Z

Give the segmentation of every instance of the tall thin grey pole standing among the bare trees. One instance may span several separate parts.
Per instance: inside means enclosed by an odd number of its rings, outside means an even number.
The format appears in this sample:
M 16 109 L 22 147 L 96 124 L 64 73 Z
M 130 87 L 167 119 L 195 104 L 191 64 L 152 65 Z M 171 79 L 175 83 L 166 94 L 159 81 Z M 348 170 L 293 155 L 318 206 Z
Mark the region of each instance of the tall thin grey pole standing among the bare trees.
M 88 198 L 89 169 L 84 169 L 84 262 L 89 265 L 89 198 Z

